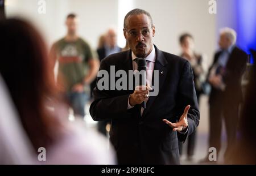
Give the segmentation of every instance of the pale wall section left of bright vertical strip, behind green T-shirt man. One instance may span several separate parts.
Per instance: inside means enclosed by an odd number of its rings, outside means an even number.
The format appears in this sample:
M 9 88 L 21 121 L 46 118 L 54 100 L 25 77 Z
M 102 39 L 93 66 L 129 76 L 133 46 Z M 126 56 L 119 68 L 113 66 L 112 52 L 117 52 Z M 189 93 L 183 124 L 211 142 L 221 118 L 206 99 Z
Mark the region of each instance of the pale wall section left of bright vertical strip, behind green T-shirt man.
M 38 13 L 37 0 L 6 0 L 7 17 L 30 20 L 46 38 L 48 46 L 65 35 L 65 18 L 75 12 L 80 18 L 79 33 L 94 48 L 108 27 L 117 27 L 117 0 L 46 0 L 46 14 Z

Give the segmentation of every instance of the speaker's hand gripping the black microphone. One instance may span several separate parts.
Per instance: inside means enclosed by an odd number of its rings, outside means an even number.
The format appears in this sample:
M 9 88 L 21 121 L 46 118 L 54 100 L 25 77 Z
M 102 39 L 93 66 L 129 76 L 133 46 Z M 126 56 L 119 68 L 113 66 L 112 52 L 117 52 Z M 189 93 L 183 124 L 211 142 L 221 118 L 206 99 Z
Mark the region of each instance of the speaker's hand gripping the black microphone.
M 150 87 L 146 85 L 139 85 L 135 87 L 135 91 L 130 95 L 129 104 L 131 106 L 142 104 L 143 101 L 147 101 L 149 97 Z

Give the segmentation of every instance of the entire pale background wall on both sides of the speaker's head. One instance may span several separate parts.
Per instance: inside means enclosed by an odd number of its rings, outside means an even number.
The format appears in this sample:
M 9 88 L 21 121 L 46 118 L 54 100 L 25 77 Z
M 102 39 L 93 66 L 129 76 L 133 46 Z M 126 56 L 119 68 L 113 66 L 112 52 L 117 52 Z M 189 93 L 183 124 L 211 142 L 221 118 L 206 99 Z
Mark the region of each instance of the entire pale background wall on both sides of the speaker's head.
M 7 16 L 19 15 L 29 19 L 40 29 L 48 46 L 65 35 L 65 17 L 69 12 L 75 12 L 80 16 L 80 35 L 89 41 L 93 48 L 96 48 L 101 33 L 108 27 L 118 27 L 118 24 L 122 23 L 122 19 L 118 19 L 118 14 L 124 16 L 128 12 L 122 10 L 126 11 L 131 7 L 143 8 L 152 15 L 156 28 L 154 43 L 159 49 L 179 54 L 179 35 L 189 32 L 195 38 L 196 50 L 207 54 L 208 63 L 212 62 L 216 49 L 216 29 L 226 24 L 218 23 L 216 26 L 217 16 L 209 14 L 207 0 L 46 0 L 46 14 L 38 14 L 37 0 L 6 2 Z M 229 2 L 226 2 L 225 7 L 228 7 Z M 120 3 L 125 4 L 122 6 Z M 223 10 L 220 13 L 219 15 L 226 18 L 225 22 L 228 21 L 229 17 L 223 14 Z M 233 25 L 231 23 L 233 22 L 230 22 L 230 25 Z M 119 32 L 119 37 L 123 38 L 122 31 Z M 199 130 L 208 130 L 207 97 L 201 100 Z

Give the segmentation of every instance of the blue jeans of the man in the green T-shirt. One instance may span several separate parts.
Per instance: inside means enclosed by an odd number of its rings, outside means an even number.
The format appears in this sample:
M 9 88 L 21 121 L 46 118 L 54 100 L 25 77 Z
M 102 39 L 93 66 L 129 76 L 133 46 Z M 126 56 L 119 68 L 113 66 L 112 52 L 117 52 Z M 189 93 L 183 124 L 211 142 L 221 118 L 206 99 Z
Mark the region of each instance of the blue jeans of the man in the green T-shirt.
M 69 92 L 67 94 L 69 105 L 74 111 L 74 115 L 85 116 L 85 104 L 88 101 L 88 95 L 85 92 Z

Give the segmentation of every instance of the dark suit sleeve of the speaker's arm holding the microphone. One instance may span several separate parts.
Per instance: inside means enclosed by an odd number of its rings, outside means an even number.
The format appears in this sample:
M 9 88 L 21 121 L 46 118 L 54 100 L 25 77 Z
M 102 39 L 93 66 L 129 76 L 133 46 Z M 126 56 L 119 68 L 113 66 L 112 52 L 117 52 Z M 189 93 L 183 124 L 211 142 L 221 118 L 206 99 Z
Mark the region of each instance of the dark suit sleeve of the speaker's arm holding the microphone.
M 109 67 L 106 60 L 102 60 L 100 71 L 106 70 L 110 75 Z M 100 79 L 102 78 L 97 78 L 97 83 Z M 90 115 L 92 115 L 94 121 L 122 118 L 125 113 L 129 113 L 129 110 L 127 110 L 129 96 L 129 94 L 116 96 L 112 91 L 99 90 L 96 84 L 93 90 L 94 101 L 90 105 Z

